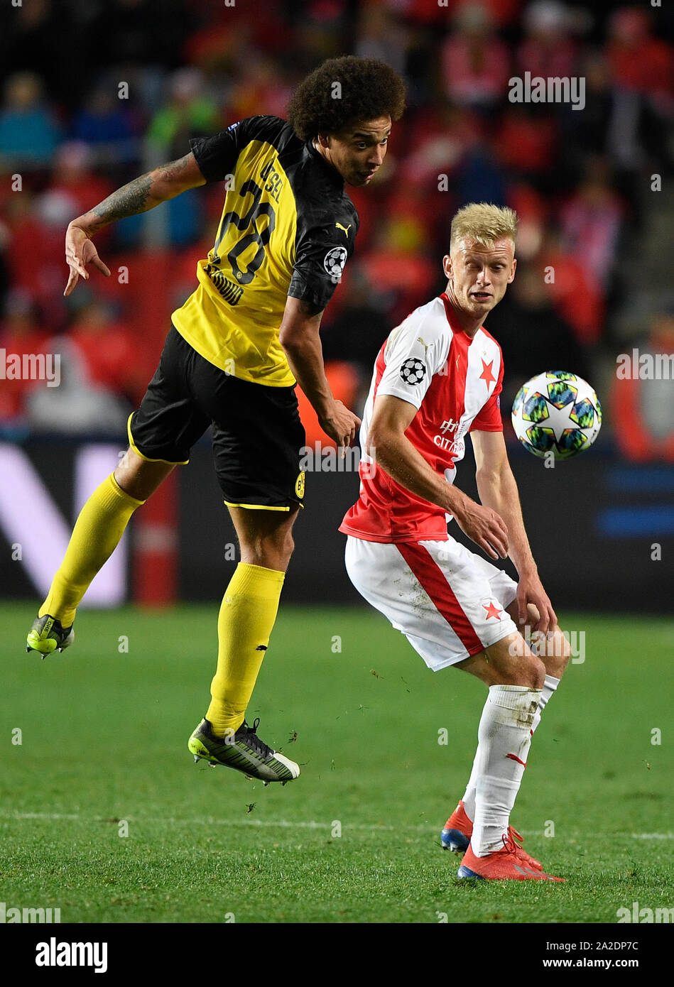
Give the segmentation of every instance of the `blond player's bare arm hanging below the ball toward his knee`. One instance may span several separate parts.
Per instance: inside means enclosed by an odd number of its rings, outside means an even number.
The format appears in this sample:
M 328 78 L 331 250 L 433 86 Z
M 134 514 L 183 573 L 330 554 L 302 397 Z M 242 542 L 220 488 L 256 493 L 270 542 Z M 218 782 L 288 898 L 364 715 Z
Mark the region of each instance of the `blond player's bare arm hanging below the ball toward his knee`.
M 533 603 L 540 615 L 535 630 L 547 632 L 557 625 L 557 615 L 543 588 L 529 546 L 503 433 L 476 429 L 471 432 L 471 438 L 480 499 L 486 507 L 500 514 L 508 529 L 509 555 L 519 575 L 517 609 L 520 624 L 526 621 L 527 603 Z

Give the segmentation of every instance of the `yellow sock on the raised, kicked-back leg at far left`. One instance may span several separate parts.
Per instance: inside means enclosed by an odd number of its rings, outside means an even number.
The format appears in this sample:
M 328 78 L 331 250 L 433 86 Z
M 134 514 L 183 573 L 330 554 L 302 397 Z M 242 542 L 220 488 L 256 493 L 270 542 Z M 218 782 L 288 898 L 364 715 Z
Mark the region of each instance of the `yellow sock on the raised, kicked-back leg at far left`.
M 124 493 L 113 473 L 92 493 L 80 511 L 38 617 L 50 614 L 63 627 L 70 627 L 89 584 L 112 556 L 131 514 L 143 503 Z

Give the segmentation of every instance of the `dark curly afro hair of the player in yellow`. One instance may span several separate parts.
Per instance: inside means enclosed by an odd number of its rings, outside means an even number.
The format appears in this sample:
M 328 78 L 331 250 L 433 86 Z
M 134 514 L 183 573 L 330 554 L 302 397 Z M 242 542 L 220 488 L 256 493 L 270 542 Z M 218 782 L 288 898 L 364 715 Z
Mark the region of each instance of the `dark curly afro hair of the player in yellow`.
M 287 117 L 300 140 L 311 140 L 379 116 L 397 120 L 404 110 L 405 84 L 398 72 L 376 58 L 344 55 L 324 61 L 299 84 Z

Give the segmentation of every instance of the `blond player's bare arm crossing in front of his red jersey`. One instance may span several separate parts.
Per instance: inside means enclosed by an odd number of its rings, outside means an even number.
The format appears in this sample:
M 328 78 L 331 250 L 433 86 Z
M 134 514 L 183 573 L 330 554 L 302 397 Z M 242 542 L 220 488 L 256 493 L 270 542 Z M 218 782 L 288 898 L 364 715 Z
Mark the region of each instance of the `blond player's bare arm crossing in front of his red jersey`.
M 453 514 L 461 530 L 490 559 L 499 556 L 505 559 L 508 535 L 502 518 L 495 510 L 476 503 L 446 483 L 414 448 L 405 432 L 415 415 L 416 408 L 410 402 L 390 394 L 379 395 L 374 403 L 365 452 L 396 483 Z

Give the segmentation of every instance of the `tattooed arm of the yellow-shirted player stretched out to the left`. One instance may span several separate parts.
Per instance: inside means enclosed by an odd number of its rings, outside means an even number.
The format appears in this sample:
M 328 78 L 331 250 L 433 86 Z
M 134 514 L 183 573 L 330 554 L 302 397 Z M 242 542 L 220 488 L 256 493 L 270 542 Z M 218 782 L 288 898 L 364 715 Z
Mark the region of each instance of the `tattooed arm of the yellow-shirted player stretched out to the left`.
M 147 212 L 160 202 L 205 183 L 206 180 L 190 151 L 185 157 L 160 165 L 113 191 L 89 212 L 71 220 L 65 234 L 65 259 L 70 273 L 63 294 L 69 295 L 80 277 L 89 279 L 88 265 L 110 277 L 110 268 L 103 263 L 92 243 L 91 238 L 95 233 L 116 219 Z

